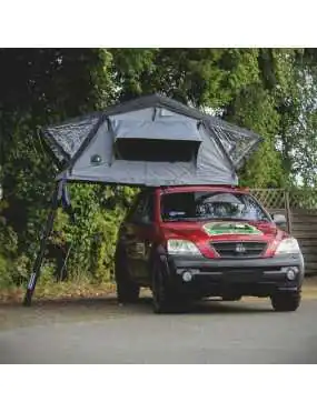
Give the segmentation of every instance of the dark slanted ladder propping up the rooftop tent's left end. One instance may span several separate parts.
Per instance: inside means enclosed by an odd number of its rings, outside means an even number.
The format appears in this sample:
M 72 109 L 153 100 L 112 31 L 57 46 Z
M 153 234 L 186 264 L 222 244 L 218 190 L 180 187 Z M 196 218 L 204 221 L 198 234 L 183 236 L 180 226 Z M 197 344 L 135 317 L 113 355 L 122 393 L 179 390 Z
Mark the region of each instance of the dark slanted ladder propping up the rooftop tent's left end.
M 51 210 L 50 210 L 49 215 L 48 215 L 48 220 L 47 220 L 43 237 L 41 239 L 40 250 L 37 254 L 37 259 L 36 259 L 34 265 L 33 265 L 33 272 L 30 277 L 28 289 L 27 289 L 27 292 L 26 292 L 26 295 L 24 295 L 24 300 L 23 300 L 23 305 L 24 307 L 30 307 L 31 302 L 32 302 L 32 295 L 33 295 L 33 292 L 34 292 L 34 289 L 36 289 L 37 281 L 40 277 L 41 265 L 42 265 L 42 261 L 43 261 L 43 258 L 44 258 L 47 240 L 48 240 L 48 238 L 49 238 L 49 235 L 52 231 L 56 212 L 57 212 L 57 209 L 59 207 L 59 201 L 61 199 L 61 189 L 62 189 L 62 181 L 59 181 L 57 183 L 56 190 L 53 192 Z

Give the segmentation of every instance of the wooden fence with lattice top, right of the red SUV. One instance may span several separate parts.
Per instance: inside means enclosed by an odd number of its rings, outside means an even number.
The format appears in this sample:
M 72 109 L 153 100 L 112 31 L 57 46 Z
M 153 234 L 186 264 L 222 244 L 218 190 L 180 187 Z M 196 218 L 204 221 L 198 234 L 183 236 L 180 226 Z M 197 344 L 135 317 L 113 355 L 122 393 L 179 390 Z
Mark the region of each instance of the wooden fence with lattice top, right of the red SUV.
M 307 275 L 317 275 L 317 190 L 251 189 L 270 213 L 287 218 L 287 231 L 299 242 Z

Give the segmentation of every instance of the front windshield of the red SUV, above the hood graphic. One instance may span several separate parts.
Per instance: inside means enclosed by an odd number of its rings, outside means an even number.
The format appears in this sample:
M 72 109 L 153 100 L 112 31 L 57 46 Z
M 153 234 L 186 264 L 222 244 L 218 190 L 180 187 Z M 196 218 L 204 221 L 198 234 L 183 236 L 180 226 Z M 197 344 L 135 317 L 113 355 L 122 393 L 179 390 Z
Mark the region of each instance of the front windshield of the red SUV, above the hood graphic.
M 249 194 L 221 191 L 162 194 L 161 218 L 164 221 L 205 219 L 270 221 L 268 214 Z

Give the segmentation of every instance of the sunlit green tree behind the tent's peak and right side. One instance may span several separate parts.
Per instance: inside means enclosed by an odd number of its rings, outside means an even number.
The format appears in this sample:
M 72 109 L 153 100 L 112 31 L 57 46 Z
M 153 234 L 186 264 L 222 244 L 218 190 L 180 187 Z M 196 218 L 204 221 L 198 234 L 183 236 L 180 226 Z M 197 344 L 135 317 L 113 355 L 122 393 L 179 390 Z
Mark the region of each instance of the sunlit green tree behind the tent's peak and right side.
M 271 72 L 267 57 L 279 62 L 283 53 L 259 49 L 116 49 L 111 53 L 120 99 L 162 92 L 254 129 L 265 142 L 241 172 L 241 181 L 284 184 L 281 155 L 275 145 L 279 122 L 275 79 L 280 68 L 276 64 Z

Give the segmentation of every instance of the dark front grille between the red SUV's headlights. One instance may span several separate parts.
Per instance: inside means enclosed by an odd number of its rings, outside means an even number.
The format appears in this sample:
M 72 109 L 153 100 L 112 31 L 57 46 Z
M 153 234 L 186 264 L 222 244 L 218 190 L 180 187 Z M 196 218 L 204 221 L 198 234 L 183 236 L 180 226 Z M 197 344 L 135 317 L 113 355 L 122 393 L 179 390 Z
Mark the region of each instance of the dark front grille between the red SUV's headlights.
M 220 258 L 259 258 L 266 249 L 265 242 L 211 242 Z

